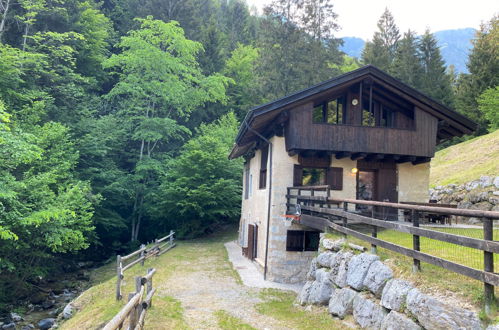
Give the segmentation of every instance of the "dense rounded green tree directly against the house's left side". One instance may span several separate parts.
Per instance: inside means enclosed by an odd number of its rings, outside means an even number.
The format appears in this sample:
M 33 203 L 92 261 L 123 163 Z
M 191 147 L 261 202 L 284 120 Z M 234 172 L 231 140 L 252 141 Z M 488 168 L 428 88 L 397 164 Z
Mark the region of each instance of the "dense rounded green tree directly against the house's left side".
M 234 114 L 201 125 L 169 164 L 156 202 L 157 221 L 169 222 L 180 236 L 195 237 L 239 219 L 242 163 L 227 158 L 237 128 Z

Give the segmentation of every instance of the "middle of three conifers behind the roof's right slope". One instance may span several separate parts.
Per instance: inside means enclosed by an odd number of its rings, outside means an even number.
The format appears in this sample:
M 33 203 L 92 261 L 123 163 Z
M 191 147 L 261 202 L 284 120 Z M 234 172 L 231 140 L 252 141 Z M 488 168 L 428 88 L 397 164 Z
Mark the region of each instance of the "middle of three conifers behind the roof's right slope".
M 389 72 L 409 86 L 419 89 L 423 74 L 416 34 L 409 30 L 398 41 L 395 57 Z

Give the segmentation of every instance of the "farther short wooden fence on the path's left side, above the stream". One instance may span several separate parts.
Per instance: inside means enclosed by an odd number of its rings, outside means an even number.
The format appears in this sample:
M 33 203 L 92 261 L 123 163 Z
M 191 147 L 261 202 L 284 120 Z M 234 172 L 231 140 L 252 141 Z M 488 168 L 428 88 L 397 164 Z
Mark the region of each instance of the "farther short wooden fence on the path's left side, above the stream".
M 150 257 L 153 256 L 160 256 L 166 251 L 170 250 L 171 248 L 175 247 L 175 238 L 174 238 L 175 232 L 170 231 L 170 234 L 162 237 L 160 239 L 156 239 L 154 243 L 146 247 L 144 244 L 140 246 L 140 249 L 138 249 L 135 252 L 130 253 L 129 255 L 126 256 L 116 256 L 116 300 L 120 300 L 122 298 L 121 296 L 121 282 L 125 278 L 125 271 L 127 269 L 132 268 L 139 262 L 144 265 L 144 261 Z M 127 260 L 132 260 L 133 257 L 137 256 L 137 259 L 133 260 L 132 262 L 123 265 L 123 263 Z

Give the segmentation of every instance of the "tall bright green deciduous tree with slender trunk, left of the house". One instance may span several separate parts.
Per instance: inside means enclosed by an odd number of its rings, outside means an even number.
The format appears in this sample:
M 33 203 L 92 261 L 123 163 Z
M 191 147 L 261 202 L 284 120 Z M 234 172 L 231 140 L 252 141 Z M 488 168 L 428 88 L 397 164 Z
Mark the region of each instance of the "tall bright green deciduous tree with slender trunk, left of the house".
M 175 21 L 165 23 L 152 17 L 138 19 L 141 27 L 122 37 L 122 52 L 104 66 L 118 76 L 106 98 L 131 131 L 131 240 L 137 240 L 144 216 L 144 202 L 157 184 L 161 158 L 154 157 L 169 143 L 189 134 L 178 120 L 188 117 L 207 102 L 224 102 L 228 78 L 204 76 L 196 61 L 201 44 L 188 40 Z

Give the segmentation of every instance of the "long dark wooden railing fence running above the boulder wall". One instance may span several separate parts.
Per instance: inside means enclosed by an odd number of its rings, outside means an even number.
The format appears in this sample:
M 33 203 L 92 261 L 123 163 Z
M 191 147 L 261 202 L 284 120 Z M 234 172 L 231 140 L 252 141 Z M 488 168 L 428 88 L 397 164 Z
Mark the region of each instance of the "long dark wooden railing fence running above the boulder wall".
M 295 193 L 293 193 L 295 191 Z M 371 244 L 372 251 L 382 247 L 402 255 L 413 258 L 413 269 L 421 270 L 420 262 L 426 262 L 447 270 L 468 276 L 484 283 L 486 308 L 495 300 L 494 286 L 499 285 L 499 274 L 494 272 L 494 254 L 499 253 L 499 242 L 494 241 L 493 222 L 499 219 L 499 212 L 455 209 L 447 207 L 400 204 L 389 202 L 366 201 L 356 199 L 333 198 L 330 196 L 328 186 L 317 187 L 292 187 L 288 188 L 288 209 L 300 205 L 300 224 L 325 231 L 327 228 L 351 235 Z M 410 210 L 411 224 L 399 221 L 386 221 L 375 219 L 374 216 L 359 214 L 349 209 L 349 204 L 368 205 L 372 207 L 394 208 L 396 210 Z M 333 207 L 335 205 L 335 207 Z M 445 233 L 419 227 L 421 213 L 443 214 L 447 216 L 462 216 L 479 218 L 483 224 L 483 239 L 471 238 L 461 235 Z M 352 223 L 370 226 L 371 233 L 366 235 L 348 228 Z M 411 234 L 413 237 L 412 249 L 403 247 L 377 237 L 378 228 L 395 230 L 400 233 Z M 420 252 L 420 237 L 464 246 L 483 251 L 483 270 L 464 266 L 462 264 Z

